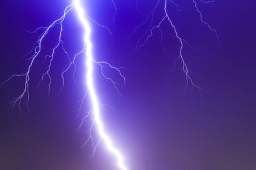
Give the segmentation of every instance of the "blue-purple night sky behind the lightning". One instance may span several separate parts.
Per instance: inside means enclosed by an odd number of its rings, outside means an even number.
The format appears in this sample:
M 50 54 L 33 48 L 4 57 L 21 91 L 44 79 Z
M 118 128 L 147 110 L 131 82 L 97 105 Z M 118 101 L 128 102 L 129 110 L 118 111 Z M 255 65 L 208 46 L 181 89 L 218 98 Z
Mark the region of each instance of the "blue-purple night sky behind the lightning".
M 88 15 L 113 32 L 91 23 L 95 60 L 104 60 L 124 67 L 126 86 L 115 71 L 105 73 L 118 82 L 123 97 L 113 84 L 100 74 L 95 65 L 95 85 L 99 101 L 113 108 L 102 108 L 102 120 L 116 148 L 124 157 L 129 170 L 255 170 L 256 169 L 256 71 L 255 71 L 255 9 L 254 1 L 220 1 L 200 3 L 204 20 L 218 30 L 214 32 L 200 22 L 192 0 L 168 4 L 168 14 L 177 27 L 184 46 L 184 59 L 192 71 L 191 78 L 202 88 L 186 89 L 182 72 L 179 41 L 173 28 L 163 22 L 161 34 L 147 45 L 136 49 L 136 43 L 147 31 L 149 22 L 141 27 L 129 43 L 129 34 L 144 22 L 156 1 L 116 0 L 116 21 L 111 1 L 84 0 Z M 0 81 L 12 74 L 25 73 L 28 53 L 40 31 L 37 27 L 50 25 L 60 17 L 70 1 L 13 0 L 1 2 Z M 153 25 L 164 16 L 164 1 L 160 1 Z M 63 42 L 70 57 L 83 49 L 83 29 L 72 11 L 63 22 Z M 24 88 L 24 78 L 14 78 L 0 89 L 0 169 L 3 170 L 118 170 L 115 157 L 99 145 L 94 157 L 92 143 L 83 148 L 88 138 L 90 118 L 79 131 L 83 115 L 90 110 L 90 98 L 85 99 L 81 116 L 77 117 L 79 101 L 83 98 L 84 55 L 77 57 L 75 79 L 71 69 L 61 73 L 68 58 L 57 50 L 52 63 L 52 87 L 47 97 L 45 78 L 36 88 L 47 69 L 51 52 L 58 39 L 56 25 L 42 43 L 44 50 L 31 68 L 29 109 L 26 99 L 12 110 L 10 101 Z M 148 34 L 147 34 L 148 35 Z M 145 39 L 145 37 L 144 37 Z M 143 40 L 140 42 L 143 43 Z M 95 141 L 99 139 L 93 129 Z

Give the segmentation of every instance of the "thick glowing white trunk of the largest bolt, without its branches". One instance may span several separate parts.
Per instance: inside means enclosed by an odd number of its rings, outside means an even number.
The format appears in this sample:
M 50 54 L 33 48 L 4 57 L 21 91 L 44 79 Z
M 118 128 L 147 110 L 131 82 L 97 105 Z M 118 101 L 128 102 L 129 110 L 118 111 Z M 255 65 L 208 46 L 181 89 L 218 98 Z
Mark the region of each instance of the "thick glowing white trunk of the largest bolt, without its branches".
M 79 20 L 81 21 L 81 24 L 84 27 L 84 43 L 86 46 L 86 85 L 88 87 L 88 92 L 90 94 L 90 99 L 92 101 L 93 105 L 93 120 L 95 122 L 95 125 L 97 126 L 97 129 L 99 131 L 100 137 L 102 138 L 102 141 L 106 144 L 108 150 L 110 152 L 114 153 L 116 156 L 116 159 L 118 160 L 118 166 L 122 170 L 127 170 L 127 167 L 124 166 L 122 155 L 114 146 L 112 145 L 111 139 L 109 136 L 104 132 L 103 123 L 100 120 L 100 103 L 97 99 L 97 94 L 95 92 L 95 88 L 93 86 L 93 53 L 92 53 L 92 42 L 90 40 L 90 24 L 88 23 L 88 20 L 84 16 L 85 11 L 83 10 L 81 6 L 80 0 L 74 0 L 74 6 L 77 11 L 77 15 L 79 17 Z

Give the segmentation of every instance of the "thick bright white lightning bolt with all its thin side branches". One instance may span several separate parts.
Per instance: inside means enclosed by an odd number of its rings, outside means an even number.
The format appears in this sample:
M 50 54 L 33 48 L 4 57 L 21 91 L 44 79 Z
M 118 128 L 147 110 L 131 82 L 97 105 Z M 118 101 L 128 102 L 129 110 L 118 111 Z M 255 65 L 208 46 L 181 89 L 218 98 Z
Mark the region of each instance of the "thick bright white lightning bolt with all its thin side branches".
M 115 21 L 115 17 L 116 17 L 116 4 L 115 2 L 112 0 L 111 1 L 113 3 L 113 6 L 115 8 L 115 13 L 113 16 L 113 21 Z M 81 52 L 77 53 L 76 55 L 74 55 L 73 59 L 70 59 L 70 56 L 67 53 L 67 50 L 65 50 L 64 48 L 64 44 L 62 41 L 62 32 L 63 32 L 63 22 L 65 21 L 65 17 L 66 15 L 71 11 L 75 9 L 76 10 L 76 14 L 77 17 L 79 18 L 79 21 L 81 23 L 81 25 L 83 25 L 83 29 L 84 29 L 84 36 L 83 36 L 83 40 L 84 40 L 84 48 L 81 50 Z M 80 116 L 81 113 L 81 109 L 82 109 L 82 105 L 84 103 L 86 94 L 88 94 L 90 96 L 90 101 L 92 103 L 92 110 L 90 110 L 88 112 L 88 114 L 86 114 L 83 119 L 81 124 L 79 125 L 79 128 L 77 129 L 77 131 L 81 128 L 81 126 L 84 123 L 84 120 L 88 117 L 91 118 L 92 120 L 92 125 L 90 127 L 90 134 L 89 137 L 87 139 L 87 141 L 84 143 L 84 145 L 86 143 L 88 143 L 88 141 L 92 140 L 93 143 L 93 152 L 92 155 L 94 155 L 97 146 L 99 146 L 100 142 L 104 143 L 106 145 L 106 147 L 108 148 L 108 150 L 113 153 L 113 155 L 115 155 L 116 157 L 116 162 L 117 162 L 117 166 L 122 169 L 122 170 L 127 170 L 127 167 L 124 165 L 124 160 L 122 158 L 121 153 L 113 146 L 113 143 L 111 141 L 111 138 L 108 136 L 108 134 L 104 131 L 104 124 L 102 122 L 101 116 L 100 116 L 100 107 L 101 106 L 108 106 L 106 104 L 100 104 L 98 101 L 98 97 L 97 97 L 97 92 L 95 90 L 95 86 L 93 83 L 93 69 L 94 69 L 94 65 L 97 64 L 98 66 L 100 66 L 101 68 L 101 73 L 102 76 L 104 76 L 104 78 L 106 78 L 106 80 L 111 81 L 111 83 L 113 83 L 113 86 L 115 87 L 117 93 L 121 96 L 118 87 L 116 86 L 116 82 L 113 81 L 111 78 L 109 78 L 108 76 L 106 76 L 106 74 L 104 74 L 103 71 L 103 67 L 109 67 L 111 70 L 113 71 L 117 71 L 118 74 L 123 78 L 124 80 L 124 85 L 125 85 L 125 77 L 123 76 L 123 74 L 121 73 L 120 69 L 122 67 L 114 67 L 111 64 L 109 64 L 108 62 L 104 62 L 104 61 L 100 61 L 97 62 L 95 59 L 93 59 L 93 53 L 92 53 L 92 40 L 90 39 L 90 34 L 91 34 L 91 26 L 90 26 L 90 22 L 92 21 L 95 24 L 99 25 L 100 27 L 103 27 L 104 29 L 106 29 L 110 34 L 112 34 L 112 32 L 110 31 L 110 29 L 104 25 L 99 24 L 98 22 L 96 22 L 95 20 L 93 20 L 92 18 L 90 18 L 88 15 L 86 15 L 86 12 L 81 4 L 81 0 L 73 0 L 72 4 L 70 4 L 69 6 L 67 6 L 65 8 L 65 11 L 63 13 L 63 15 L 58 18 L 58 20 L 55 20 L 54 22 L 52 22 L 51 25 L 49 25 L 48 27 L 38 27 L 35 31 L 28 31 L 28 32 L 38 32 L 38 31 L 43 31 L 42 34 L 39 36 L 38 41 L 36 41 L 33 44 L 32 50 L 30 53 L 33 53 L 33 55 L 31 57 L 29 57 L 28 60 L 30 60 L 29 66 L 28 66 L 28 71 L 24 74 L 13 74 L 12 76 L 10 76 L 10 78 L 6 79 L 3 81 L 3 83 L 1 84 L 1 87 L 3 87 L 4 83 L 6 83 L 7 81 L 11 80 L 12 78 L 15 77 L 25 77 L 25 83 L 24 83 L 24 90 L 23 92 L 20 94 L 19 97 L 13 99 L 13 101 L 11 102 L 11 106 L 12 108 L 17 104 L 19 107 L 19 111 L 21 112 L 20 109 L 20 104 L 22 102 L 22 99 L 24 97 L 27 97 L 26 99 L 26 107 L 27 110 L 29 111 L 29 81 L 30 81 L 30 74 L 31 74 L 31 67 L 33 67 L 35 65 L 35 60 L 36 58 L 40 55 L 40 52 L 42 50 L 42 41 L 44 40 L 45 36 L 47 36 L 47 34 L 49 33 L 49 30 L 52 29 L 52 27 L 54 27 L 55 25 L 60 25 L 60 32 L 59 32 L 59 37 L 58 37 L 58 41 L 56 42 L 56 45 L 52 48 L 52 52 L 49 55 L 45 56 L 45 60 L 44 62 L 49 58 L 49 64 L 47 66 L 46 71 L 42 74 L 41 80 L 38 82 L 38 86 L 40 86 L 40 83 L 45 79 L 45 77 L 48 78 L 49 83 L 48 83 L 48 92 L 47 92 L 47 96 L 50 96 L 50 91 L 51 91 L 51 83 L 52 83 L 52 79 L 51 79 L 51 66 L 52 66 L 52 61 L 54 60 L 54 56 L 56 55 L 56 50 L 58 48 L 62 48 L 63 52 L 67 55 L 68 60 L 70 61 L 70 63 L 68 64 L 68 67 L 63 71 L 63 73 L 61 73 L 61 78 L 63 81 L 63 85 L 61 87 L 61 89 L 63 89 L 63 87 L 65 86 L 65 74 L 67 73 L 67 71 L 74 66 L 74 72 L 73 72 L 73 79 L 74 81 L 74 74 L 76 72 L 76 57 L 78 55 L 82 55 L 84 52 L 84 57 L 85 57 L 85 66 L 86 66 L 86 76 L 85 76 L 85 80 L 86 80 L 86 87 L 88 89 L 88 92 L 84 93 L 83 99 L 81 100 L 81 103 L 79 105 L 79 114 L 77 115 L 77 117 Z M 28 55 L 27 54 L 27 55 Z M 60 90 L 61 90 L 60 89 Z M 97 131 L 100 135 L 100 140 L 97 141 L 96 145 L 94 146 L 94 141 L 93 141 L 93 137 L 92 137 L 92 129 L 93 127 L 97 127 Z M 84 146 L 82 145 L 82 146 Z

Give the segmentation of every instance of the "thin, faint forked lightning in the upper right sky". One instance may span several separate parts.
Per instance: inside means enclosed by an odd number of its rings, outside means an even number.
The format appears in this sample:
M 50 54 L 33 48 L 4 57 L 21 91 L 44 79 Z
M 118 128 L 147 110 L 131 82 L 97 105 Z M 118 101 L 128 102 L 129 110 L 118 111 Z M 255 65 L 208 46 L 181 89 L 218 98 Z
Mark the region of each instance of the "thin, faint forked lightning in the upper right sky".
M 199 0 L 199 1 L 201 3 L 214 3 L 214 0 L 212 0 L 212 1 Z M 137 10 L 138 10 L 138 2 L 139 1 L 136 1 L 136 8 L 137 8 Z M 147 43 L 150 40 L 150 38 L 152 38 L 152 36 L 154 36 L 154 34 L 153 34 L 154 29 L 157 29 L 160 32 L 161 44 L 163 45 L 164 50 L 165 50 L 165 46 L 164 46 L 164 43 L 163 43 L 163 31 L 161 29 L 161 25 L 163 24 L 163 22 L 168 21 L 170 26 L 172 27 L 174 33 L 175 33 L 175 37 L 177 38 L 177 40 L 180 43 L 179 57 L 177 57 L 177 59 L 175 59 L 174 67 L 177 64 L 177 60 L 180 59 L 181 62 L 182 62 L 182 71 L 184 72 L 185 77 L 186 77 L 186 90 L 188 89 L 188 86 L 190 84 L 192 87 L 195 87 L 198 90 L 198 92 L 200 93 L 201 99 L 202 99 L 202 89 L 201 89 L 201 87 L 199 85 L 197 85 L 194 82 L 193 78 L 191 78 L 191 74 L 195 74 L 195 73 L 193 73 L 192 71 L 189 70 L 188 64 L 186 64 L 186 60 L 184 59 L 184 55 L 183 55 L 183 49 L 184 49 L 185 45 L 189 46 L 189 48 L 192 48 L 193 50 L 198 50 L 198 49 L 196 49 L 195 47 L 189 45 L 189 43 L 188 43 L 188 41 L 186 39 L 184 39 L 184 38 L 179 36 L 179 32 L 177 31 L 177 27 L 173 24 L 173 21 L 172 21 L 171 17 L 168 15 L 168 10 L 167 10 L 168 3 L 174 5 L 175 8 L 177 9 L 177 11 L 182 11 L 182 10 L 180 10 L 180 6 L 177 3 L 175 3 L 175 1 L 164 0 L 164 7 L 163 7 L 164 16 L 158 22 L 157 25 L 153 26 L 154 13 L 155 13 L 156 9 L 159 7 L 159 4 L 160 4 L 160 0 L 157 0 L 154 8 L 152 8 L 152 10 L 148 13 L 147 17 L 145 18 L 145 21 L 142 22 L 140 25 L 138 25 L 134 29 L 134 31 L 131 34 L 129 34 L 129 37 L 128 37 L 128 40 L 127 40 L 127 43 L 126 43 L 125 46 L 127 46 L 129 44 L 129 41 L 130 41 L 131 37 L 134 36 L 134 34 L 139 29 L 141 29 L 141 27 L 143 27 L 146 24 L 149 24 L 148 27 L 147 27 L 147 30 L 145 31 L 145 33 L 143 35 L 141 35 L 140 38 L 138 38 L 138 41 L 137 41 L 137 44 L 136 44 L 136 50 L 138 48 L 140 48 L 141 46 L 147 45 Z M 218 31 L 216 29 L 213 29 L 211 27 L 211 25 L 203 19 L 202 12 L 199 10 L 198 4 L 196 3 L 196 0 L 192 0 L 192 3 L 194 4 L 196 12 L 200 16 L 200 22 L 202 22 L 202 24 L 206 25 L 210 29 L 210 31 L 214 32 L 218 42 L 220 42 L 220 36 L 218 35 Z M 138 11 L 140 12 L 140 10 L 138 10 Z M 145 39 L 145 40 L 142 41 L 143 39 Z M 142 41 L 142 43 L 141 43 L 141 41 Z

